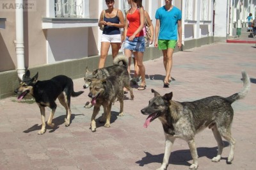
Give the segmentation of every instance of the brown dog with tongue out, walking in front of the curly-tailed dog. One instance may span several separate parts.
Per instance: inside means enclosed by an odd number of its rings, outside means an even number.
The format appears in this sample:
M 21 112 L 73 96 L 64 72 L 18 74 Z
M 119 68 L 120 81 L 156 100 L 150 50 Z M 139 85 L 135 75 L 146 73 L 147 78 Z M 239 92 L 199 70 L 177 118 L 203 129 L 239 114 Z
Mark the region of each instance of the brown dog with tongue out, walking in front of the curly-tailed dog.
M 110 127 L 111 107 L 116 98 L 120 102 L 120 112 L 118 116 L 123 116 L 124 111 L 124 90 L 123 82 L 116 76 L 109 76 L 106 79 L 92 79 L 90 84 L 90 93 L 88 97 L 92 98 L 93 114 L 91 118 L 92 132 L 96 131 L 95 118 L 100 111 L 100 106 L 104 108 L 104 114 L 100 123 L 105 123 L 104 127 Z

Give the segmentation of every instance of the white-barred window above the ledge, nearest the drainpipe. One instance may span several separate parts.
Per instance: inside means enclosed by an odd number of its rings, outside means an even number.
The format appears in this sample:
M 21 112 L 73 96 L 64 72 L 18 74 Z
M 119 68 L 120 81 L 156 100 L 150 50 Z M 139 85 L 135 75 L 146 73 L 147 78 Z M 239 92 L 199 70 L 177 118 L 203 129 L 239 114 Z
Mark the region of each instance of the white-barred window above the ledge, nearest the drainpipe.
M 83 0 L 55 0 L 55 17 L 83 17 Z

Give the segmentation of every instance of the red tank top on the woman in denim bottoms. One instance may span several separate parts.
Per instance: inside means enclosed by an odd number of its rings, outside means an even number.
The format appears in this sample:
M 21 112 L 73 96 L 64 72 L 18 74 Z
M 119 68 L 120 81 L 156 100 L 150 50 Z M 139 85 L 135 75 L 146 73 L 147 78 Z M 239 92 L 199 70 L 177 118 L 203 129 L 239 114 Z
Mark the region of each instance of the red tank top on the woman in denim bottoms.
M 127 20 L 129 21 L 129 26 L 127 29 L 127 34 L 126 36 L 132 36 L 133 33 L 140 27 L 140 10 L 137 9 L 134 13 L 127 14 Z M 143 29 L 141 29 L 140 33 L 135 35 L 136 37 L 138 36 L 144 36 L 143 34 Z

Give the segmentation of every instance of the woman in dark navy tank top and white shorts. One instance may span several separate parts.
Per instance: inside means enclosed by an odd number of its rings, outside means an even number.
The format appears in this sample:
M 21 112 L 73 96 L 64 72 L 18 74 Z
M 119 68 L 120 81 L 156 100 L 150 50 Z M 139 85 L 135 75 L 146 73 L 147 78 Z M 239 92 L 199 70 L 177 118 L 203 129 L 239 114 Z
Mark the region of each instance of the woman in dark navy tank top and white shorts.
M 98 23 L 98 26 L 103 29 L 101 36 L 99 68 L 103 68 L 105 66 L 110 45 L 113 59 L 117 56 L 121 47 L 121 42 L 123 42 L 120 28 L 125 26 L 122 11 L 114 8 L 115 1 L 106 0 L 106 4 L 108 9 L 102 10 Z

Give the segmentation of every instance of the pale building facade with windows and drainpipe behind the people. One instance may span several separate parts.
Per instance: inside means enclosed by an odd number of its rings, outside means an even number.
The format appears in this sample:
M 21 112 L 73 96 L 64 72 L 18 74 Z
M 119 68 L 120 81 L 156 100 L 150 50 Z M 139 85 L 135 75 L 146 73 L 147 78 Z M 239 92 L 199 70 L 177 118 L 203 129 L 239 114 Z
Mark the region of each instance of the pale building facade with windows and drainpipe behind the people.
M 254 0 L 243 0 L 243 6 L 254 6 L 239 10 L 237 17 L 238 1 L 173 0 L 173 5 L 182 10 L 182 49 L 225 42 L 227 35 L 233 34 L 237 20 L 244 21 L 244 15 L 251 10 L 255 16 Z M 156 10 L 164 4 L 164 0 L 143 0 L 154 25 Z M 126 0 L 115 0 L 115 7 L 123 13 L 129 9 Z M 39 72 L 39 79 L 44 80 L 58 74 L 79 78 L 86 66 L 90 70 L 97 68 L 102 34 L 98 20 L 106 8 L 105 0 L 1 1 L 0 98 L 13 95 L 26 69 L 32 74 Z M 228 12 L 228 8 L 232 10 Z M 161 51 L 150 45 L 144 60 L 160 56 Z M 110 57 L 106 65 L 111 63 Z

